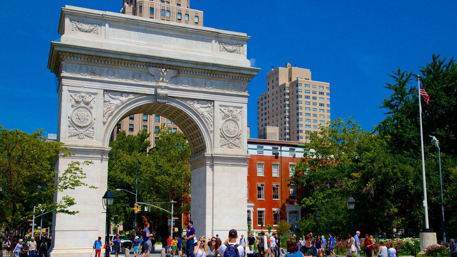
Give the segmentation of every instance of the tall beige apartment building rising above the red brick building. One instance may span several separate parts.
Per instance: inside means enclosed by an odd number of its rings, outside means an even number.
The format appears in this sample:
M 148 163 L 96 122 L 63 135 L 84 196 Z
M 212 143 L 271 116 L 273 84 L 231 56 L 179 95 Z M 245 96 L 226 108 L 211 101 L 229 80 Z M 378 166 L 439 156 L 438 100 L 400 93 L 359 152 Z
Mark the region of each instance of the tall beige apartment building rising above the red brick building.
M 309 142 L 306 132 L 330 121 L 330 84 L 311 80 L 308 69 L 278 67 L 266 74 L 266 92 L 257 98 L 257 130 L 278 127 L 279 140 Z

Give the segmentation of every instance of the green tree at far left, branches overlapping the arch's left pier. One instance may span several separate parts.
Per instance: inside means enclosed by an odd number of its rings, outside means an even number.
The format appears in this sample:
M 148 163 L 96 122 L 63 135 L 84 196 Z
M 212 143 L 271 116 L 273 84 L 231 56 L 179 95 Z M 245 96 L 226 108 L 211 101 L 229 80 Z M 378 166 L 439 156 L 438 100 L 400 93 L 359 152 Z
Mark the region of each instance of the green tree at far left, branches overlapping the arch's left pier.
M 42 136 L 43 129 L 32 134 L 18 129 L 7 130 L 0 125 L 0 220 L 4 220 L 9 231 L 21 228 L 32 219 L 33 206 L 44 204 L 40 209 L 56 213 L 75 214 L 68 208 L 76 204 L 74 198 L 64 195 L 53 202 L 53 195 L 76 187 L 87 186 L 81 180 L 85 173 L 80 165 L 89 165 L 90 161 L 70 162 L 65 171 L 60 172 L 54 183 L 56 157 L 71 155 L 60 142 L 47 142 Z M 59 154 L 60 153 L 60 154 Z M 48 189 L 39 192 L 37 184 L 47 185 Z M 90 186 L 90 188 L 96 188 Z M 35 210 L 36 214 L 40 211 Z

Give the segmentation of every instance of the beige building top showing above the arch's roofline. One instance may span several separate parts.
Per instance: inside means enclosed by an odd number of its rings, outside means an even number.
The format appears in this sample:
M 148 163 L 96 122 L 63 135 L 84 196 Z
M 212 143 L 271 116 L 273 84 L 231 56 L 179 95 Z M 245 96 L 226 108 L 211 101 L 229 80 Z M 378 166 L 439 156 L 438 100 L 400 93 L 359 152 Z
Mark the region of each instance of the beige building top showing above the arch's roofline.
M 189 8 L 190 0 L 122 0 L 123 14 L 203 26 L 203 11 Z

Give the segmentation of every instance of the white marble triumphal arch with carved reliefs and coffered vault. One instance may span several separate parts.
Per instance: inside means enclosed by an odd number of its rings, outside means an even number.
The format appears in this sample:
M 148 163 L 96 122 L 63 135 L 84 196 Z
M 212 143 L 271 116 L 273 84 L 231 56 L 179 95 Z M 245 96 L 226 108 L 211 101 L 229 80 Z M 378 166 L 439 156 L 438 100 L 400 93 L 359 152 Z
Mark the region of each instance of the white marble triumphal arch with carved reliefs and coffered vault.
M 76 215 L 53 214 L 51 256 L 88 256 L 105 234 L 109 140 L 122 118 L 159 114 L 191 146 L 191 215 L 197 236 L 246 230 L 248 82 L 259 69 L 246 58 L 248 36 L 207 27 L 95 11 L 62 9 L 48 68 L 58 77 L 58 140 L 90 160 L 85 182 L 59 192 Z M 230 208 L 228 208 L 228 206 Z

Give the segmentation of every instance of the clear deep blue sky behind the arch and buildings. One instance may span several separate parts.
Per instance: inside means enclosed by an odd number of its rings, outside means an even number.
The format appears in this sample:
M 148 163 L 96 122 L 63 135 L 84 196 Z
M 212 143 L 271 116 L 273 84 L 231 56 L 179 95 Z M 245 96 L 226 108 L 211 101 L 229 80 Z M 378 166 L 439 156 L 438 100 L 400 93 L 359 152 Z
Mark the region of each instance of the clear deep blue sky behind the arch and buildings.
M 25 4 L 25 5 L 23 5 Z M 75 5 L 119 12 L 122 0 L 48 0 L 4 5 L 0 124 L 7 129 L 57 131 L 55 76 L 47 69 L 57 40 L 60 8 Z M 457 1 L 253 1 L 191 0 L 206 27 L 245 32 L 248 58 L 259 74 L 250 82 L 248 121 L 256 137 L 256 99 L 266 90 L 271 66 L 287 62 L 330 83 L 331 118 L 354 118 L 371 129 L 377 108 L 391 94 L 388 73 L 418 72 L 433 53 L 456 55 Z M 25 9 L 22 9 L 25 8 Z

